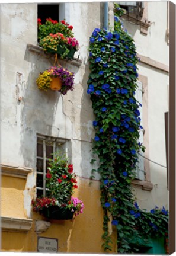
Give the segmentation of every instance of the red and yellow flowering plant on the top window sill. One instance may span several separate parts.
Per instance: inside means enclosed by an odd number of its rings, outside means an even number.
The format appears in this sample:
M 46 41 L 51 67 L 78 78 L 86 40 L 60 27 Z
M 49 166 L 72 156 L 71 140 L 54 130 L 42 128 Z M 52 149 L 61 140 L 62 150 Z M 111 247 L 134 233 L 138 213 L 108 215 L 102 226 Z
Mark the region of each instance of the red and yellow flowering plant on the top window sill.
M 72 29 L 65 20 L 58 23 L 49 18 L 45 24 L 41 24 L 38 19 L 39 45 L 45 52 L 57 53 L 62 59 L 73 59 L 79 43 L 74 38 Z

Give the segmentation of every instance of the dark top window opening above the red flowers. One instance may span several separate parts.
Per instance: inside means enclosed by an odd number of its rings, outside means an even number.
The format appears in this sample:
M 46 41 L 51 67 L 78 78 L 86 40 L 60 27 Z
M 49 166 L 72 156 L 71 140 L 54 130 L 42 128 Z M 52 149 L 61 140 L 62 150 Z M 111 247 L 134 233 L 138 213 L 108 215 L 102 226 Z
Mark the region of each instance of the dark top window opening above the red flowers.
M 47 18 L 59 21 L 59 4 L 38 4 L 38 18 L 41 19 L 41 24 Z

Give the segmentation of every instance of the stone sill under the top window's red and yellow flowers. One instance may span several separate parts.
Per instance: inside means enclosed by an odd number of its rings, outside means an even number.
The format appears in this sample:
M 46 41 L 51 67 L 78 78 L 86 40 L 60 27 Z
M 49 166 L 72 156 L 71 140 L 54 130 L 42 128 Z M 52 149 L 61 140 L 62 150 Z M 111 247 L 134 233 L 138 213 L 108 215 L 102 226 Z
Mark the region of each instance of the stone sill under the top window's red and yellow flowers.
M 30 52 L 33 52 L 33 53 L 36 53 L 36 54 L 39 54 L 39 55 L 43 55 L 43 56 L 46 56 L 46 57 L 53 57 L 54 58 L 54 55 L 52 55 L 51 53 L 45 53 L 43 48 L 40 47 L 40 46 L 36 46 L 34 44 L 27 44 L 27 49 L 30 51 Z M 73 60 L 66 60 L 66 59 L 59 59 L 61 60 L 63 63 L 72 63 L 73 66 L 77 66 L 79 68 L 79 66 L 81 66 L 82 64 L 82 61 L 80 59 L 73 59 Z

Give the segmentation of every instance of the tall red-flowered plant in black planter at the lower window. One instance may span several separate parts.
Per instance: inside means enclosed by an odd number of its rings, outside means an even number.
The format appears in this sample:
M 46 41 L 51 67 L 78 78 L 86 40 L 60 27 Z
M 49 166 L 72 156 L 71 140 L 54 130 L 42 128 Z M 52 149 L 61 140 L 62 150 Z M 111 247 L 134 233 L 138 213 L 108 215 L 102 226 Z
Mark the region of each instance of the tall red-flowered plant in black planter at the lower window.
M 49 162 L 46 197 L 33 200 L 33 210 L 48 219 L 72 219 L 84 209 L 84 203 L 72 196 L 74 189 L 78 188 L 73 165 L 68 164 L 68 159 L 60 154 Z

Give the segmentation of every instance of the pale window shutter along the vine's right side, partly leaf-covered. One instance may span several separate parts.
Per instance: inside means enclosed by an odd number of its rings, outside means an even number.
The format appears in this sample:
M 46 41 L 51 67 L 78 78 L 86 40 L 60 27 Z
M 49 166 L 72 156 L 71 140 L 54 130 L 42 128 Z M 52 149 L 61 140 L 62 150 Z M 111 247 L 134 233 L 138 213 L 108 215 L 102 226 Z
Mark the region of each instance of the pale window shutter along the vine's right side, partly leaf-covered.
M 137 89 L 136 89 L 136 94 L 135 94 L 135 98 L 137 101 L 139 101 L 140 104 L 142 104 L 142 94 L 143 94 L 143 90 L 142 90 L 142 82 L 137 82 Z M 139 107 L 139 111 L 140 111 L 140 125 L 143 126 L 143 119 L 142 119 L 142 107 Z M 143 130 L 140 130 L 139 133 L 139 142 L 143 143 Z M 136 164 L 136 178 L 138 180 L 145 180 L 145 171 L 144 171 L 144 159 L 143 159 L 143 152 L 142 150 L 139 151 L 140 155 L 138 155 L 138 162 Z

